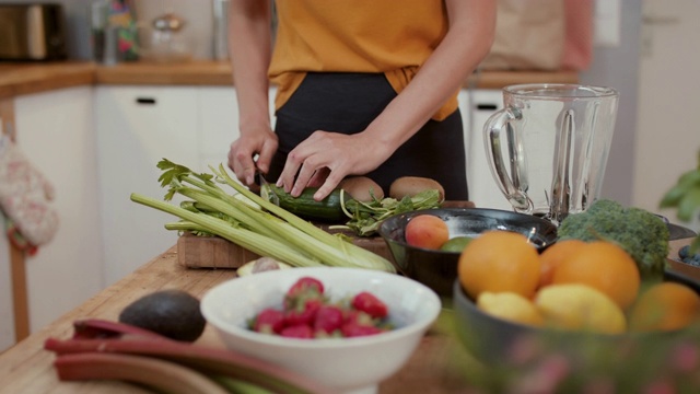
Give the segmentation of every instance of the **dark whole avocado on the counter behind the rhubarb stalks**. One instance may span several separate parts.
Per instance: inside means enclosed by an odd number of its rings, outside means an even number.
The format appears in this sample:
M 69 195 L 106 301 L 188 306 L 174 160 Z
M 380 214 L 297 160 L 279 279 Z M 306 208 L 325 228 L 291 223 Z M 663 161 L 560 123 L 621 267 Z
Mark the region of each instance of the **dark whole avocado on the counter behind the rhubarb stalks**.
M 174 289 L 155 291 L 133 301 L 121 311 L 119 322 L 182 341 L 197 340 L 207 325 L 199 300 Z

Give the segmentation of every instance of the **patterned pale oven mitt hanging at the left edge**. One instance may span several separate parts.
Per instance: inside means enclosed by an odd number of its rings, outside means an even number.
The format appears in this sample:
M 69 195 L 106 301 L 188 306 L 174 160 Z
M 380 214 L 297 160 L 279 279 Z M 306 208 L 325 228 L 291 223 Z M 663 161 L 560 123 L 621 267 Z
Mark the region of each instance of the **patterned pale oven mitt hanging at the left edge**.
M 58 229 L 51 207 L 54 187 L 8 136 L 0 138 L 0 209 L 9 219 L 7 234 L 18 247 L 46 244 Z M 19 233 L 19 234 L 18 234 Z

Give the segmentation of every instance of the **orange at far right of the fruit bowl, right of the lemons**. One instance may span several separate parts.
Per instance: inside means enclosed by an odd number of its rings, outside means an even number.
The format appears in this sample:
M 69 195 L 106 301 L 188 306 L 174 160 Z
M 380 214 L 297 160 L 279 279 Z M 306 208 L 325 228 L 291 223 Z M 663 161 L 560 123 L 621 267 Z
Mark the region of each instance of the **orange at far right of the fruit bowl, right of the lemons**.
M 643 291 L 630 311 L 633 331 L 672 331 L 700 317 L 700 296 L 689 287 L 662 282 Z

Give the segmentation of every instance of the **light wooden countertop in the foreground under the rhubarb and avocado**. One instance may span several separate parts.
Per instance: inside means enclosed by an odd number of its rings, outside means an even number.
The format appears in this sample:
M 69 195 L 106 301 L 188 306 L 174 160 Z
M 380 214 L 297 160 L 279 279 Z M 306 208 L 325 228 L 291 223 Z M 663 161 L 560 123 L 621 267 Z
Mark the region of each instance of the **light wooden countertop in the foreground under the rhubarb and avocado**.
M 44 350 L 46 338 L 68 338 L 72 322 L 94 317 L 116 321 L 119 312 L 133 300 L 161 289 L 182 289 L 195 297 L 234 277 L 231 269 L 187 269 L 177 263 L 176 247 L 143 265 L 133 274 L 89 299 L 52 324 L 0 354 L 0 392 L 2 393 L 147 393 L 117 381 L 60 382 L 52 368 L 54 354 Z M 398 373 L 380 386 L 381 393 L 457 393 L 464 392 L 464 375 L 455 366 L 475 364 L 451 336 L 434 326 L 420 348 Z M 211 326 L 197 344 L 223 346 Z M 458 362 L 454 362 L 457 360 Z M 453 362 L 448 362 L 453 361 Z M 409 389 L 410 387 L 410 389 Z

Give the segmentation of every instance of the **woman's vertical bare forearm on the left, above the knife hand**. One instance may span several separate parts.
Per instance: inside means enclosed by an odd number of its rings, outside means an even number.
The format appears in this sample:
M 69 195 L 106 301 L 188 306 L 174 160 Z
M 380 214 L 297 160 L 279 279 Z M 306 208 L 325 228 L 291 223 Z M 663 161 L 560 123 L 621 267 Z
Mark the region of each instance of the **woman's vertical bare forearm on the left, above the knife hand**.
M 269 1 L 231 1 L 229 49 L 242 135 L 270 129 L 267 78 L 272 45 L 270 21 Z

